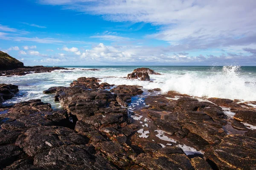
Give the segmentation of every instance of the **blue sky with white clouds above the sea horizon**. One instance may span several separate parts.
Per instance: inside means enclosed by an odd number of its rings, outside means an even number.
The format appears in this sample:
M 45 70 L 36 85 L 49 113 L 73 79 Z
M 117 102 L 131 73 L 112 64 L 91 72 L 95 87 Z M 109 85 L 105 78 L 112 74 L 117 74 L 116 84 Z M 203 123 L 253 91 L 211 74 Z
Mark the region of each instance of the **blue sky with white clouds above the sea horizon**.
M 256 65 L 256 0 L 6 0 L 24 65 Z

